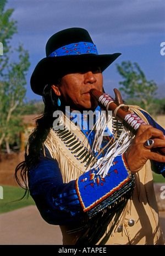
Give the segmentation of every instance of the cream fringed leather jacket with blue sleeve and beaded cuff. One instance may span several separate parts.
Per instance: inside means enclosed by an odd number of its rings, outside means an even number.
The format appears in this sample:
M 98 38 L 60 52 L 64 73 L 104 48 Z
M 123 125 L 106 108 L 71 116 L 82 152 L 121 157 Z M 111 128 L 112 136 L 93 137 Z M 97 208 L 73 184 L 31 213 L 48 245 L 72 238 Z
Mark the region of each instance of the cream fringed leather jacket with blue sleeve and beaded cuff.
M 71 127 L 63 130 L 63 134 L 51 129 L 40 163 L 29 170 L 30 194 L 43 219 L 58 224 L 63 244 L 72 245 L 81 238 L 84 223 L 90 223 L 96 231 L 99 222 L 95 227 L 91 220 L 97 220 L 100 213 L 110 208 L 112 220 L 107 218 L 105 232 L 98 233 L 95 244 L 164 244 L 150 162 L 135 175 L 135 184 L 124 155 L 114 159 L 106 177 L 98 176 L 92 167 L 86 170 L 87 161 L 93 160 L 89 139 L 78 127 L 73 127 L 73 122 L 68 122 Z M 82 153 L 73 154 L 70 145 L 72 149 L 78 145 Z M 101 218 L 99 221 L 101 225 Z M 111 234 L 106 239 L 109 230 Z

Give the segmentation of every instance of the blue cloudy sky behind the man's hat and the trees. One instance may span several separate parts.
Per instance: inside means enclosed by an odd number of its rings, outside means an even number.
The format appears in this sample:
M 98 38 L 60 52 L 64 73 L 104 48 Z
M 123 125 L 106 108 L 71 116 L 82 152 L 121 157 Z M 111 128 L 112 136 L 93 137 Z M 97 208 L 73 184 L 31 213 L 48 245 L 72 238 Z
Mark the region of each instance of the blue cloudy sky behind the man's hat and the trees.
M 130 60 L 138 62 L 147 80 L 157 83 L 158 95 L 165 97 L 165 55 L 160 53 L 165 42 L 164 0 L 8 0 L 6 8 L 14 8 L 13 19 L 18 21 L 12 47 L 23 43 L 30 55 L 27 98 L 41 99 L 31 91 L 30 76 L 45 58 L 47 40 L 70 27 L 87 29 L 99 54 L 122 53 L 103 72 L 111 96 L 122 80 L 115 64 Z

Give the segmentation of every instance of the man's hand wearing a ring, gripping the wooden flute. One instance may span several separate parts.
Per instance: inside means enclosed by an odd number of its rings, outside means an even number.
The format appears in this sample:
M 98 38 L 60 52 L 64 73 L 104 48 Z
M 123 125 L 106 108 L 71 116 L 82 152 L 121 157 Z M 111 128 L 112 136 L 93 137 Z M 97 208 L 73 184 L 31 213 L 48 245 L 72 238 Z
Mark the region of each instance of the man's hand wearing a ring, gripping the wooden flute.
M 165 163 L 164 155 L 145 147 L 144 143 L 148 139 L 153 139 L 154 141 L 153 150 L 157 147 L 165 147 L 165 137 L 161 130 L 149 125 L 141 125 L 133 143 L 125 153 L 131 173 L 137 173 L 148 159 Z

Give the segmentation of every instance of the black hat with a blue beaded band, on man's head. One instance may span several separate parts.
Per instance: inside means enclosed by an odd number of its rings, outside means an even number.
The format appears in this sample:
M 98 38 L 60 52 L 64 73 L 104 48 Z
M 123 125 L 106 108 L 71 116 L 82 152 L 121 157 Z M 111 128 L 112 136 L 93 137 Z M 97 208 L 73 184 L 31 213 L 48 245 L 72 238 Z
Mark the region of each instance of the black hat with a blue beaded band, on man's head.
M 46 84 L 86 65 L 97 65 L 104 71 L 120 53 L 98 55 L 89 33 L 83 28 L 64 29 L 47 41 L 46 58 L 38 62 L 31 76 L 32 91 L 42 95 Z

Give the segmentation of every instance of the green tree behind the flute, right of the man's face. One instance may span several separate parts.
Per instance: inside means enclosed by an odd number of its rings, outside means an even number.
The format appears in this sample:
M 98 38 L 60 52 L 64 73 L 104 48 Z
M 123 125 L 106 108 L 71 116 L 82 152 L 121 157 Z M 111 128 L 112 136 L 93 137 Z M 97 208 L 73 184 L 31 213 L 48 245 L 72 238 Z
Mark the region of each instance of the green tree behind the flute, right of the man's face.
M 130 61 L 123 61 L 121 65 L 117 64 L 117 70 L 124 79 L 119 84 L 122 85 L 120 90 L 125 93 L 127 100 L 138 103 L 146 111 L 152 112 L 152 103 L 157 90 L 156 83 L 153 80 L 147 81 L 136 62 L 132 64 Z

